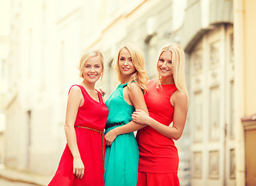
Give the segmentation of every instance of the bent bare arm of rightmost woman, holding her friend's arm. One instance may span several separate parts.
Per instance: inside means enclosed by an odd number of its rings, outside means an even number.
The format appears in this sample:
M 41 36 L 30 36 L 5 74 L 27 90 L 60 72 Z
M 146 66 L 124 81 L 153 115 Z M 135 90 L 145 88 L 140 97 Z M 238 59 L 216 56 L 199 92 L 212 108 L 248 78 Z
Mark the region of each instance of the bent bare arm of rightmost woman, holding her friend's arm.
M 187 119 L 188 98 L 183 92 L 175 91 L 170 102 L 174 104 L 174 125 L 172 127 L 164 126 L 162 123 L 150 118 L 149 115 L 140 109 L 136 109 L 136 112 L 132 114 L 132 119 L 135 122 L 151 126 L 163 134 L 163 136 L 178 140 L 183 133 Z

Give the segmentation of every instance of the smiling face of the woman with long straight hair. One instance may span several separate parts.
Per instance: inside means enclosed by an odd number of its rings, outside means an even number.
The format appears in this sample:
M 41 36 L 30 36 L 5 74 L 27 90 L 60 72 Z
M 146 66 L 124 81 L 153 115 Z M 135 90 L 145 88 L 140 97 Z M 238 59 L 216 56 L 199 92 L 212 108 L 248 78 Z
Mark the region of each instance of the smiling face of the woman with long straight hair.
M 170 51 L 163 51 L 158 62 L 157 70 L 162 78 L 173 76 L 172 53 Z

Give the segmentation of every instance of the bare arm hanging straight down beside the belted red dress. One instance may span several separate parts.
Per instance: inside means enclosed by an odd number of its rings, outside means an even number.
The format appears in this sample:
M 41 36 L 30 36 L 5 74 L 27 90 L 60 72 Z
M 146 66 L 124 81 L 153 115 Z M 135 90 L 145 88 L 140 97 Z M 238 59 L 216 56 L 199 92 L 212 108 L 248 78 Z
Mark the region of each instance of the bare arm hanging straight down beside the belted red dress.
M 84 165 L 82 164 L 79 148 L 76 142 L 74 124 L 77 111 L 82 100 L 83 97 L 81 89 L 77 86 L 72 87 L 68 95 L 68 105 L 65 118 L 65 135 L 69 150 L 73 156 L 73 174 L 81 179 L 84 174 Z

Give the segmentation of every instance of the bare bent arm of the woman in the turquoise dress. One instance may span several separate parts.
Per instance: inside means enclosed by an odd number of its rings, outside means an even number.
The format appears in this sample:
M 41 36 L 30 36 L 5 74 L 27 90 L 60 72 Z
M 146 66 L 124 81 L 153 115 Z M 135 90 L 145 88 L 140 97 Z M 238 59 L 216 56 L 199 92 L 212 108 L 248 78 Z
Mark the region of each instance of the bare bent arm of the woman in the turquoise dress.
M 129 98 L 132 102 L 132 105 L 134 105 L 136 109 L 141 109 L 142 111 L 146 112 L 147 115 L 149 114 L 148 109 L 146 108 L 146 103 L 144 100 L 142 90 L 135 83 L 130 84 Z M 111 129 L 105 136 L 106 144 L 111 145 L 111 143 L 118 135 L 124 133 L 131 133 L 135 130 L 142 129 L 145 126 L 146 125 L 141 125 L 139 123 L 131 121 L 125 124 L 124 126 L 119 126 L 114 129 Z

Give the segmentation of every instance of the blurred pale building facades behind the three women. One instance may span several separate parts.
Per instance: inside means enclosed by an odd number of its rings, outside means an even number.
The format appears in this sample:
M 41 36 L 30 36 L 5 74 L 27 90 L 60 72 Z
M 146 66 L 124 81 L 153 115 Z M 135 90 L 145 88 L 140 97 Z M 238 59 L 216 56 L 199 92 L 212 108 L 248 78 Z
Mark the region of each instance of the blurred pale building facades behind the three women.
M 102 51 L 107 99 L 124 43 L 141 47 L 150 79 L 160 47 L 178 43 L 190 96 L 175 142 L 181 186 L 256 185 L 255 9 L 254 0 L 1 0 L 0 178 L 53 176 L 82 50 Z

